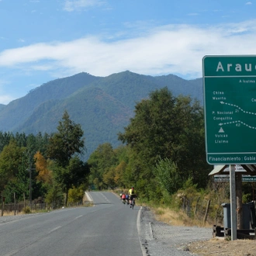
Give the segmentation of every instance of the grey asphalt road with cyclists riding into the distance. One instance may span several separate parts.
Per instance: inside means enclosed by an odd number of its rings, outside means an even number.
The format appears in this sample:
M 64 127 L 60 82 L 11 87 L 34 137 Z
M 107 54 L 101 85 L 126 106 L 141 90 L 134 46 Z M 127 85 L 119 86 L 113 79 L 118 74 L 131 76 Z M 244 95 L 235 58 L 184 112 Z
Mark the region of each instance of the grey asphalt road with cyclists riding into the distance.
M 142 256 L 140 207 L 110 192 L 91 192 L 95 206 L 0 217 L 0 256 Z

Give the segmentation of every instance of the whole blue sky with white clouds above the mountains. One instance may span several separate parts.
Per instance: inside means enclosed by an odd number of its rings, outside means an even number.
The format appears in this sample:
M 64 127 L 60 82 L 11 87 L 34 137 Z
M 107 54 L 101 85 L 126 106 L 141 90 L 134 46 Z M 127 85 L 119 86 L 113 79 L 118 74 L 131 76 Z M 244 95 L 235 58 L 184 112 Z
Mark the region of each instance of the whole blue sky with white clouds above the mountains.
M 209 54 L 256 54 L 256 1 L 0 0 L 2 104 L 82 71 L 201 78 Z

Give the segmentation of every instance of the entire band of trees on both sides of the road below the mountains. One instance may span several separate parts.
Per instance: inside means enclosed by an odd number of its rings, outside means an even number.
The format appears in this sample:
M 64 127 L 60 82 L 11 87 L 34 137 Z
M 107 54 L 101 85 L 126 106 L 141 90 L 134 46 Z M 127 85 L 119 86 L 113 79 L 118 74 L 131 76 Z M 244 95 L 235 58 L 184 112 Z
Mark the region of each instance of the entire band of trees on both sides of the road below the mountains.
M 82 161 L 85 137 L 67 111 L 52 134 L 0 132 L 0 191 L 6 202 L 29 197 L 47 202 L 81 200 L 85 189 L 130 189 L 141 199 L 167 202 L 184 188 L 206 189 L 212 166 L 206 162 L 200 103 L 174 96 L 168 88 L 137 102 L 134 116 L 117 137 L 120 146 L 100 144 Z

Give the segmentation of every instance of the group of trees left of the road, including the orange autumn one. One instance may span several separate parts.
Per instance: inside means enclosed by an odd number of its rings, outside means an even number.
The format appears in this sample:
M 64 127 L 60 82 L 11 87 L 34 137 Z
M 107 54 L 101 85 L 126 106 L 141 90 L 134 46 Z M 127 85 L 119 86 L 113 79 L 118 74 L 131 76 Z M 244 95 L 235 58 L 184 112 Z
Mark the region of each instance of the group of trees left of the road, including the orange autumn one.
M 14 193 L 19 201 L 24 195 L 29 199 L 30 193 L 32 199 L 49 203 L 81 200 L 89 173 L 88 164 L 81 161 L 84 151 L 83 130 L 67 111 L 56 133 L 1 132 L 0 192 L 5 202 L 14 202 Z

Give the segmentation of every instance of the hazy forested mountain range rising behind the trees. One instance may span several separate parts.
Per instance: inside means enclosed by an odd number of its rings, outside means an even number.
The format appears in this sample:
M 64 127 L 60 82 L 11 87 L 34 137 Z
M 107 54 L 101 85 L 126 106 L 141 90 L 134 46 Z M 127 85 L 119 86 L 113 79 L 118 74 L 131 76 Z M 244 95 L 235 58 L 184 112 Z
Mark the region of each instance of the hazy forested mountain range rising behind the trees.
M 67 110 L 85 135 L 86 158 L 109 142 L 117 147 L 134 107 L 150 92 L 167 87 L 173 95 L 190 95 L 202 103 L 202 78 L 185 80 L 174 74 L 150 76 L 123 71 L 107 77 L 85 72 L 48 81 L 26 96 L 0 105 L 0 130 L 12 133 L 54 133 Z

